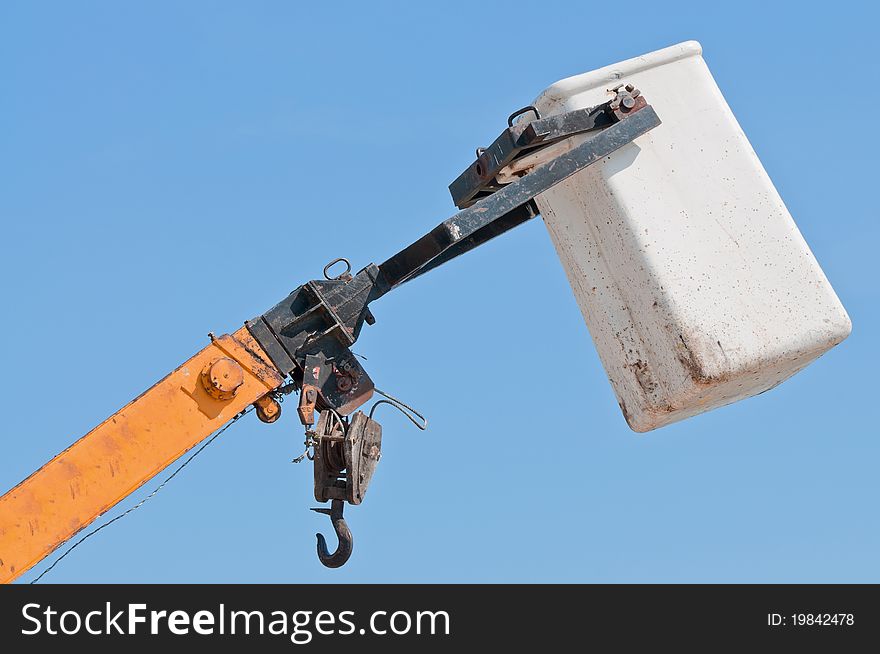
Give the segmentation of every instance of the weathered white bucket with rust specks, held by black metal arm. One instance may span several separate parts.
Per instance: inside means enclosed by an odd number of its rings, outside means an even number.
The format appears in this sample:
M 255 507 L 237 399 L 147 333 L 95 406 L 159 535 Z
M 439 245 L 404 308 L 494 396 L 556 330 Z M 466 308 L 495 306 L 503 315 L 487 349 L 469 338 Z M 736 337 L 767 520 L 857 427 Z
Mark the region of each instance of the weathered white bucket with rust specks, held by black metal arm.
M 635 431 L 765 391 L 851 329 L 701 52 L 659 50 L 534 103 L 570 111 L 631 82 L 663 121 L 537 199 Z

